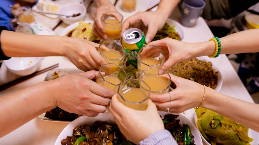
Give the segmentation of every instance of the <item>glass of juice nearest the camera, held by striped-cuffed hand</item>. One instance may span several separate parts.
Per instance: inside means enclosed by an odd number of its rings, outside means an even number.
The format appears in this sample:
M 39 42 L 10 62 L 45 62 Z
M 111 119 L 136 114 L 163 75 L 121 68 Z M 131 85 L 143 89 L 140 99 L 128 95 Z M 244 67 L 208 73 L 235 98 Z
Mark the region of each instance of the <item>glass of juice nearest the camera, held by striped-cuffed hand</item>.
M 139 79 L 127 79 L 118 88 L 118 100 L 135 110 L 146 110 L 150 97 L 149 86 Z

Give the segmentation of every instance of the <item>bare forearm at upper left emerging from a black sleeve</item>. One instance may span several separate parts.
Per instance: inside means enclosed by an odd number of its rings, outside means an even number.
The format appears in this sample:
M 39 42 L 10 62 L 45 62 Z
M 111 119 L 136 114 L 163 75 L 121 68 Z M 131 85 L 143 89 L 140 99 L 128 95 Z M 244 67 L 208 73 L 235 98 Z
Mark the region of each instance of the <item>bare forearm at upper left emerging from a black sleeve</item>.
M 2 31 L 2 51 L 9 57 L 64 56 L 70 39 L 63 36 L 44 36 Z

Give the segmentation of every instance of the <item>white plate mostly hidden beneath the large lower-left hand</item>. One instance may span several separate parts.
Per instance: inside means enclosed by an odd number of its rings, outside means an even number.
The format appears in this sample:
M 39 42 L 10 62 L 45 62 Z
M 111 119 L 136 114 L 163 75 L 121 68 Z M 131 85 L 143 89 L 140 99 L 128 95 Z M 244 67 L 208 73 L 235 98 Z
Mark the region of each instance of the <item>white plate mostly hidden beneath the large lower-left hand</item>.
M 81 72 L 84 72 L 84 71 L 82 71 L 80 69 L 54 69 L 54 70 L 51 70 L 51 71 L 48 72 L 44 81 L 52 80 L 52 75 L 53 75 L 54 72 L 59 73 L 59 77 L 61 77 L 61 76 L 65 76 L 65 75 L 68 75 L 68 74 L 71 74 L 71 73 L 81 73 Z M 72 121 L 53 120 L 53 119 L 46 118 L 44 116 L 45 116 L 45 113 L 39 115 L 37 118 L 41 119 L 41 120 L 45 120 L 45 121 L 52 121 L 52 122 L 72 122 Z

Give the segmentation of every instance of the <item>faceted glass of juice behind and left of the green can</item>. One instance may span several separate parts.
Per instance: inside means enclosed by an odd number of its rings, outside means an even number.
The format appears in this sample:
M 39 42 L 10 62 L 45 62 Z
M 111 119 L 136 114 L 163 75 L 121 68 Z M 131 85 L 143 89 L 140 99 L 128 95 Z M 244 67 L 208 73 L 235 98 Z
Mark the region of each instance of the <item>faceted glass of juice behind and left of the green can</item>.
M 108 39 L 118 40 L 121 37 L 123 16 L 119 12 L 109 11 L 102 15 L 101 20 Z

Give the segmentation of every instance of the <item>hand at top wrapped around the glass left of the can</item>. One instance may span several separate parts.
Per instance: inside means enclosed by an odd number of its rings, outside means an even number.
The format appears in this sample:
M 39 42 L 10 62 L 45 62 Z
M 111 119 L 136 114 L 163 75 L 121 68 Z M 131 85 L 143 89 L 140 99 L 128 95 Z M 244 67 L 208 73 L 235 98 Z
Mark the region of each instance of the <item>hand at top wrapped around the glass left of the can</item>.
M 93 32 L 94 34 L 101 38 L 102 40 L 107 40 L 107 35 L 105 34 L 105 29 L 101 21 L 101 17 L 104 13 L 109 11 L 117 11 L 115 6 L 107 1 L 102 3 L 94 13 L 94 25 L 93 25 Z

